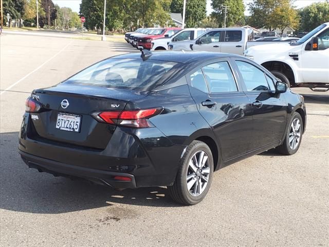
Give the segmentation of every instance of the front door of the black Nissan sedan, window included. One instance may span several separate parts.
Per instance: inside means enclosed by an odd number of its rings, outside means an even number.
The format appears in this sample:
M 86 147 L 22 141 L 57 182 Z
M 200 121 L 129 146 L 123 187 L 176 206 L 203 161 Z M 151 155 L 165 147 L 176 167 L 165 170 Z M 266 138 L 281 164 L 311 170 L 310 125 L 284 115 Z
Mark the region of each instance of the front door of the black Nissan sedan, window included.
M 252 108 L 253 149 L 278 143 L 283 138 L 287 122 L 284 95 L 275 93 L 274 81 L 260 67 L 247 60 L 236 59 L 235 63 Z

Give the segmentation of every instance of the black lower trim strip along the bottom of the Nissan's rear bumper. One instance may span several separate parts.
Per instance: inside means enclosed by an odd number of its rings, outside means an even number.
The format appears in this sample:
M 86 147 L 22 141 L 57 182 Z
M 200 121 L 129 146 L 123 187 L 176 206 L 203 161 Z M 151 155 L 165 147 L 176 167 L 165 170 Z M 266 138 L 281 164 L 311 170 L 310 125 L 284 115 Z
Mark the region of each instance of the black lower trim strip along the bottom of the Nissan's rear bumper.
M 79 177 L 96 183 L 109 185 L 113 188 L 136 188 L 135 177 L 129 173 L 119 173 L 111 171 L 102 171 L 79 166 L 72 166 L 57 161 L 48 160 L 47 158 L 31 155 L 19 150 L 22 160 L 30 168 L 38 169 L 40 172 L 51 173 L 54 176 L 62 177 Z M 130 178 L 131 181 L 115 180 L 116 176 Z

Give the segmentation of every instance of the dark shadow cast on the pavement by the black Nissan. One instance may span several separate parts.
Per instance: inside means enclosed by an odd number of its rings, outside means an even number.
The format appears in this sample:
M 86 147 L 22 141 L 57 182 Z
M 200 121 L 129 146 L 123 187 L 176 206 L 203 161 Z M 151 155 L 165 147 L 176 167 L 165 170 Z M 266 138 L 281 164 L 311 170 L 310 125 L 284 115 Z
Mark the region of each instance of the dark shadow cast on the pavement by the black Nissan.
M 18 132 L 0 134 L 0 208 L 37 214 L 61 214 L 114 203 L 180 207 L 166 187 L 118 191 L 85 180 L 53 177 L 29 169 L 17 152 Z

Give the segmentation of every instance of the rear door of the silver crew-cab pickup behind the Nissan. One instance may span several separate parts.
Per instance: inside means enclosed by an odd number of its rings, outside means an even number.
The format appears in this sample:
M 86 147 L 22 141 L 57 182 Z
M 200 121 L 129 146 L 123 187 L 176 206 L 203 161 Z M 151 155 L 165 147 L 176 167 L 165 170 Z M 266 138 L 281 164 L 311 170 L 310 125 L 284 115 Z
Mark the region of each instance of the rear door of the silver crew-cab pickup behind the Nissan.
M 221 52 L 243 55 L 244 39 L 242 30 L 225 31 L 224 42 L 221 43 Z

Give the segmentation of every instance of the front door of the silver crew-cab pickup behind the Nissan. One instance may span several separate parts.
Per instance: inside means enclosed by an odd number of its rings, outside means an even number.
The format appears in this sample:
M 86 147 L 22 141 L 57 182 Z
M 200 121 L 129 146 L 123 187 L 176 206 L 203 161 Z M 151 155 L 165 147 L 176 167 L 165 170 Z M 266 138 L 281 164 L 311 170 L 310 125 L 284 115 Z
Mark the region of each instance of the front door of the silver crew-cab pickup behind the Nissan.
M 224 31 L 209 31 L 195 41 L 193 50 L 221 52 Z

